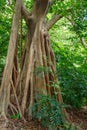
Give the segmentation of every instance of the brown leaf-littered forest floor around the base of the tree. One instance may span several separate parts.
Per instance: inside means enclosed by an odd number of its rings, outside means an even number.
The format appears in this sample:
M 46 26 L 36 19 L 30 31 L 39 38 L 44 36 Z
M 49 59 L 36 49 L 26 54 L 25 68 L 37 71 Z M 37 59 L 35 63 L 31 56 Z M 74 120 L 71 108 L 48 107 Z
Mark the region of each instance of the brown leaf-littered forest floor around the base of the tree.
M 76 130 L 87 130 L 87 109 L 68 109 L 67 110 L 72 123 L 78 126 Z M 0 118 L 0 130 L 46 130 L 41 127 L 37 121 L 29 121 L 24 123 L 22 120 L 9 119 L 6 121 Z

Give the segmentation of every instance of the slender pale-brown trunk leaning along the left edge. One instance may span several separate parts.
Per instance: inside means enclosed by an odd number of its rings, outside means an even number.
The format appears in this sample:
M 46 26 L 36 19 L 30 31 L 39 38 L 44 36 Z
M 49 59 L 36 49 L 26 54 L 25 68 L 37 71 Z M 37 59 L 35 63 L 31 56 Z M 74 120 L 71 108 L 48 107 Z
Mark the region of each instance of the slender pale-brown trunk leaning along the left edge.
M 12 70 L 14 65 L 14 56 L 16 51 L 20 13 L 21 13 L 21 0 L 17 0 L 15 5 L 15 14 L 13 16 L 12 31 L 11 31 L 10 41 L 9 41 L 6 65 L 5 65 L 1 89 L 0 89 L 0 113 L 3 116 L 5 116 L 9 104 L 10 77 L 12 76 Z

